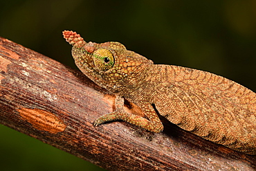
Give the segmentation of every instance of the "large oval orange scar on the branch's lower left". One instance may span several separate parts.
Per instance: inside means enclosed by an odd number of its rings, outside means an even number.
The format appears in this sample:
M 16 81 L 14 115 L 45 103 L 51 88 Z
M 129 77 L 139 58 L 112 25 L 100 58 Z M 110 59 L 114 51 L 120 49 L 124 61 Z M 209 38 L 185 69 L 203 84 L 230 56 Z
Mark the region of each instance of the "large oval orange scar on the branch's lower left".
M 21 118 L 33 125 L 35 129 L 50 132 L 51 134 L 64 132 L 66 129 L 66 125 L 63 121 L 51 112 L 42 109 L 28 108 L 21 108 L 18 111 Z

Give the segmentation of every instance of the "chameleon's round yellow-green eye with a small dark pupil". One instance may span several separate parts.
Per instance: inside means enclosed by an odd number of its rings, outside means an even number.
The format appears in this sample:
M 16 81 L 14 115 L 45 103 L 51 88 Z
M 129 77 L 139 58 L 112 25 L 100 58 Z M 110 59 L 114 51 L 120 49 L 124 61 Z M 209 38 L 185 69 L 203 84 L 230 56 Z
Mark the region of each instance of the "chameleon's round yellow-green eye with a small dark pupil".
M 108 49 L 99 48 L 93 52 L 93 63 L 100 71 L 107 71 L 114 64 L 113 54 Z

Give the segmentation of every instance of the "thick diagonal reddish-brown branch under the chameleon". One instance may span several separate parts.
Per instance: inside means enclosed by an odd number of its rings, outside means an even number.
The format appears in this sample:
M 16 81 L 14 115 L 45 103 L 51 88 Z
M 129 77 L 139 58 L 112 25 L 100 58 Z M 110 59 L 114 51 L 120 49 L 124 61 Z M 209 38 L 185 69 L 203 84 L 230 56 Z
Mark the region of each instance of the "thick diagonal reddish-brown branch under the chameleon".
M 163 119 L 153 134 L 128 123 L 93 126 L 115 96 L 79 71 L 0 37 L 0 123 L 107 170 L 255 170 L 232 151 Z M 126 110 L 140 114 L 127 102 Z

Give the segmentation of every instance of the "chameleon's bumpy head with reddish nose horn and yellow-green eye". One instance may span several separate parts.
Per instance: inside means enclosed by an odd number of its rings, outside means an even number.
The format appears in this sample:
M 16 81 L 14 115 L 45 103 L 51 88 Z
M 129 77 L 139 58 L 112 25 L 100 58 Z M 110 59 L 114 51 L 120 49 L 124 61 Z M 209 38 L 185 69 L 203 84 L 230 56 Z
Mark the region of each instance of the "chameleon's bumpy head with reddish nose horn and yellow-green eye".
M 136 87 L 136 80 L 147 71 L 151 60 L 127 51 L 119 42 L 96 44 L 86 43 L 73 31 L 64 30 L 66 42 L 73 46 L 72 55 L 77 67 L 93 82 L 110 91 L 117 91 L 124 85 Z

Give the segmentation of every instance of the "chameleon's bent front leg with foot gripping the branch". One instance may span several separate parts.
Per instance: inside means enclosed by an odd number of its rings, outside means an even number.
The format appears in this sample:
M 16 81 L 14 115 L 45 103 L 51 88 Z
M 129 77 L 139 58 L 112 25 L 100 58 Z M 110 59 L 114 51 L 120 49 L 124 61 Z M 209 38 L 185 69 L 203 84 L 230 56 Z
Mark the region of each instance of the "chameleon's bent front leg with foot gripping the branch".
M 124 120 L 127 123 L 131 123 L 133 125 L 136 125 L 138 127 L 143 127 L 144 129 L 147 129 L 150 132 L 156 132 L 159 133 L 163 131 L 163 124 L 161 120 L 159 119 L 158 115 L 156 114 L 156 111 L 154 110 L 154 107 L 150 103 L 147 104 L 138 104 L 147 118 L 143 118 L 142 116 L 138 116 L 135 114 L 129 114 L 124 110 L 124 98 L 120 96 L 116 96 L 116 110 L 109 113 L 104 114 L 97 118 L 94 122 L 95 126 L 98 126 L 102 123 L 106 123 L 108 121 L 113 120 Z

